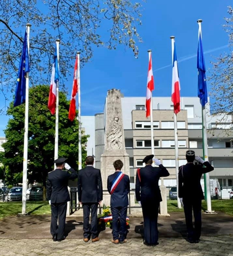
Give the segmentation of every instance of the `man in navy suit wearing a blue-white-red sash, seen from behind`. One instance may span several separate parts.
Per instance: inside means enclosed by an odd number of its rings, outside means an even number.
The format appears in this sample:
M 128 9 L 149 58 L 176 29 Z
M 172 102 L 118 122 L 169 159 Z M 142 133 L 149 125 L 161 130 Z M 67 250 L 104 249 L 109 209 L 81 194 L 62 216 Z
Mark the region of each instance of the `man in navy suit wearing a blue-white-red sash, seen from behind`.
M 129 205 L 128 193 L 130 190 L 129 176 L 122 173 L 123 162 L 116 160 L 113 163 L 115 173 L 108 176 L 107 188 L 111 195 L 110 206 L 112 214 L 112 236 L 114 244 L 126 243 L 126 215 Z M 118 218 L 120 225 L 118 224 Z

